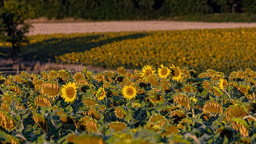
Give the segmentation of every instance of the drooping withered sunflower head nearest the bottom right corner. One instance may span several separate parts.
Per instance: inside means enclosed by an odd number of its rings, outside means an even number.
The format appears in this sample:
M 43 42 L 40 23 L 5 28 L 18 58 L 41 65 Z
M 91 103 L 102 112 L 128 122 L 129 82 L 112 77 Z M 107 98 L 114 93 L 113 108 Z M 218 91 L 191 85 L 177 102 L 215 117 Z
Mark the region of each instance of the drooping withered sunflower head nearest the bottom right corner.
M 249 125 L 247 122 L 242 118 L 232 118 L 232 125 L 235 130 L 240 131 L 240 134 L 242 137 L 248 137 L 249 136 Z

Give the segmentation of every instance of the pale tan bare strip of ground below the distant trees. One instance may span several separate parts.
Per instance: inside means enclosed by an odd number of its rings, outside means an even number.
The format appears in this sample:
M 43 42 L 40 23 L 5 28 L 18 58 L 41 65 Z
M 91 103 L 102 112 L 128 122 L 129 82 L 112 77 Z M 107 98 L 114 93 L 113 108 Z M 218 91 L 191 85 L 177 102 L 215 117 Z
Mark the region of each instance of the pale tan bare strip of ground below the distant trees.
M 52 33 L 86 33 L 149 30 L 183 30 L 256 27 L 256 23 L 204 23 L 177 21 L 103 21 L 80 23 L 34 23 L 28 35 Z

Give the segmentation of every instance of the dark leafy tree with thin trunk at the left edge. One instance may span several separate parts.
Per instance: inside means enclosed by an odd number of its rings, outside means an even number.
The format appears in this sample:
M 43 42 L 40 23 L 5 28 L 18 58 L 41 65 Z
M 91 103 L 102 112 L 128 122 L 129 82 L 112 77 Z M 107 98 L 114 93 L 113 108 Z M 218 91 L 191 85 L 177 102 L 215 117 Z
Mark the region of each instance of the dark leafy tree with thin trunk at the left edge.
M 31 25 L 26 22 L 32 18 L 34 12 L 25 2 L 19 0 L 4 0 L 0 7 L 0 41 L 12 43 L 13 64 L 17 64 L 17 56 L 20 47 L 28 43 L 25 36 Z

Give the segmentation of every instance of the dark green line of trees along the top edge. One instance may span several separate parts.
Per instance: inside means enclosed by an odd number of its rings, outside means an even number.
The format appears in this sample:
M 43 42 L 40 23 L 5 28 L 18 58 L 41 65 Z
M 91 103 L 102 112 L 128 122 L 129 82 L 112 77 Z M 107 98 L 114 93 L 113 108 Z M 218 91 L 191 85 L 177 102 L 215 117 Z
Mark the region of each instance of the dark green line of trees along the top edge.
M 0 0 L 1 1 L 1 0 Z M 3 0 L 2 0 L 3 1 Z M 119 20 L 210 13 L 256 13 L 256 0 L 23 0 L 35 17 Z M 233 8 L 234 7 L 234 8 Z

